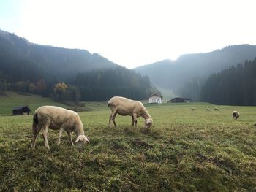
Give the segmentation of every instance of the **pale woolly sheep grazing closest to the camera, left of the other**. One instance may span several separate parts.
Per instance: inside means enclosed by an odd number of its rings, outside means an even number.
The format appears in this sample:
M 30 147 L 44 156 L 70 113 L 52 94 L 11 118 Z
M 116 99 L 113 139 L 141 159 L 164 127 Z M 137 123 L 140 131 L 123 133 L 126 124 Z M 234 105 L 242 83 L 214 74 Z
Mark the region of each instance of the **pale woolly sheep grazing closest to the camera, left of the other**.
M 78 147 L 89 142 L 89 139 L 85 136 L 83 131 L 83 123 L 77 112 L 66 110 L 61 107 L 55 106 L 42 106 L 34 112 L 32 132 L 33 137 L 31 141 L 31 147 L 35 149 L 35 143 L 39 131 L 42 129 L 42 136 L 45 139 L 45 147 L 50 150 L 47 133 L 48 129 L 58 130 L 59 129 L 59 140 L 57 145 L 61 143 L 61 135 L 63 131 L 67 132 L 71 144 L 74 146 L 72 141 L 71 132 L 75 132 L 77 138 L 75 143 L 78 143 Z

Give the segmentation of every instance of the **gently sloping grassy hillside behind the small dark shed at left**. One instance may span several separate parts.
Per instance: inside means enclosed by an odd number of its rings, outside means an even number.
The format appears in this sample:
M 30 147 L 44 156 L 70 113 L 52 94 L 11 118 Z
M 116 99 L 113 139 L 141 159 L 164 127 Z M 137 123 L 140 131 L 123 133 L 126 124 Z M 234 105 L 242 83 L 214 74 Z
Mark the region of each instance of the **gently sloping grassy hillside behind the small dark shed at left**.
M 12 115 L 12 108 L 17 106 L 28 105 L 31 112 L 42 105 L 56 105 L 59 107 L 66 107 L 64 104 L 54 102 L 53 99 L 38 96 L 29 95 L 16 92 L 6 92 L 0 95 L 0 115 Z

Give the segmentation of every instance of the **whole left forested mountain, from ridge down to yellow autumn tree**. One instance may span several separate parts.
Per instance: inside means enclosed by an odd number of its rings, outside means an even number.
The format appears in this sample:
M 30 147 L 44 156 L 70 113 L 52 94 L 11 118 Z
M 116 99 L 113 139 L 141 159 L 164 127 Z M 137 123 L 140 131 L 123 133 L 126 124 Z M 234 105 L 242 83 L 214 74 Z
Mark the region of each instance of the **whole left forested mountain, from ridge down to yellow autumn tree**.
M 0 94 L 19 91 L 56 101 L 107 101 L 112 96 L 142 100 L 159 91 L 147 76 L 97 53 L 36 45 L 0 31 Z

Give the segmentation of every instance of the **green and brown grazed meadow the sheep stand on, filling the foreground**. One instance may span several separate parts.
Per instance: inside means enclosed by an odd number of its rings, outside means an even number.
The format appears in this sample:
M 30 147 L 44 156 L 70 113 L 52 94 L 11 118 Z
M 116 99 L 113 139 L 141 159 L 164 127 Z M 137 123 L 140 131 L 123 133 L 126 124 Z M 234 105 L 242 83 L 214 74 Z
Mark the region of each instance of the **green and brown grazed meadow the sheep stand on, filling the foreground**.
M 154 119 L 147 131 L 143 118 L 132 128 L 121 116 L 108 128 L 107 104 L 89 105 L 79 112 L 91 139 L 81 150 L 66 134 L 57 146 L 50 130 L 51 150 L 39 136 L 33 151 L 32 115 L 1 116 L 0 191 L 256 191 L 256 107 L 146 105 Z

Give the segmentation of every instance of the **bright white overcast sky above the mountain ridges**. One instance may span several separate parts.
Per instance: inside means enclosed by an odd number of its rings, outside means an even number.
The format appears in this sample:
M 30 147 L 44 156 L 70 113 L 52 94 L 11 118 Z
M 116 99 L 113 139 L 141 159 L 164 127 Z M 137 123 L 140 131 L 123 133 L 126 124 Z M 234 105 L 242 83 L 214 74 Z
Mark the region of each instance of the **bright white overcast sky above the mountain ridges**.
M 128 69 L 256 45 L 255 0 L 0 0 L 0 29 Z

